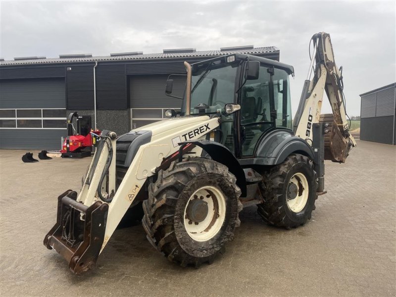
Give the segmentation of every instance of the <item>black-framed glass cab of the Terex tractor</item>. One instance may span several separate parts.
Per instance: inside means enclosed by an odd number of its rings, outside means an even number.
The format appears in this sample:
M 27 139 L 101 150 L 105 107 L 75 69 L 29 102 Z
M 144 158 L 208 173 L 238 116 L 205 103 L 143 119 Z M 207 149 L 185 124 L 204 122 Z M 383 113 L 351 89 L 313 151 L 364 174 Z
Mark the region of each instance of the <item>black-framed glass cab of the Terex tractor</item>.
M 191 95 L 185 92 L 181 115 L 220 116 L 215 141 L 237 158 L 253 157 L 263 134 L 292 130 L 289 75 L 293 72 L 290 65 L 247 54 L 192 64 Z

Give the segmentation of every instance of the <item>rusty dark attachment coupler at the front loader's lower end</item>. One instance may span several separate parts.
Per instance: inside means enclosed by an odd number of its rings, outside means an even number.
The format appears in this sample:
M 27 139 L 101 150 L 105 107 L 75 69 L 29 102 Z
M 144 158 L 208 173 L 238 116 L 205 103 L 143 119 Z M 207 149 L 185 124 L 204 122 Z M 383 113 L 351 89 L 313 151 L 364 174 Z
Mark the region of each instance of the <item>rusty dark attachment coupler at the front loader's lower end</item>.
M 80 274 L 92 269 L 103 244 L 108 204 L 96 201 L 86 206 L 76 201 L 77 193 L 68 190 L 58 197 L 56 224 L 44 238 L 48 249 L 55 249 Z

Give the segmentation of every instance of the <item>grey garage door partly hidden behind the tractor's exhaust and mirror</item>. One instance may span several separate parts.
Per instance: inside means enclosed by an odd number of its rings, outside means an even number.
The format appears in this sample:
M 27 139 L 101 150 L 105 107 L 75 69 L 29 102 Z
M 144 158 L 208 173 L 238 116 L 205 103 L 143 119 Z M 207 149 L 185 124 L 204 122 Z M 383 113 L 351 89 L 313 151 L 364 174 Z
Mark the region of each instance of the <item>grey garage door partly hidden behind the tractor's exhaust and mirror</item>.
M 168 75 L 139 75 L 130 77 L 129 98 L 132 129 L 164 119 L 164 112 L 168 108 L 180 110 L 182 100 L 165 95 L 167 78 Z M 172 79 L 174 80 L 172 94 L 183 97 L 186 77 L 172 76 Z

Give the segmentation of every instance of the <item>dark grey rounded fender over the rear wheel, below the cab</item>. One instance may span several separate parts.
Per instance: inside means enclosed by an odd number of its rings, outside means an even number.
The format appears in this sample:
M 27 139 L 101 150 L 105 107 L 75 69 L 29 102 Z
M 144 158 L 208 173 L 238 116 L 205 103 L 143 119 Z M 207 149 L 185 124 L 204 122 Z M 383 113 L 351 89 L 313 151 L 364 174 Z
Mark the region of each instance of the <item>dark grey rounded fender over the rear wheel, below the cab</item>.
M 292 130 L 275 129 L 259 140 L 252 158 L 239 162 L 241 165 L 278 165 L 292 153 L 314 160 L 314 152 L 305 140 L 295 136 Z

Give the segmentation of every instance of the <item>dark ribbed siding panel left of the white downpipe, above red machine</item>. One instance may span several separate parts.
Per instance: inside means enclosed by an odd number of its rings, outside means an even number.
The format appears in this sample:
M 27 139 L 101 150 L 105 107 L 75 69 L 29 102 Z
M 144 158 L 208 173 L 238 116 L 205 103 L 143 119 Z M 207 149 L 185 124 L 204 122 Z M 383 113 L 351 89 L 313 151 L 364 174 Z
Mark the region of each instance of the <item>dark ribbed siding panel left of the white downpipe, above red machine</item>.
M 67 108 L 94 108 L 94 65 L 71 65 L 66 71 Z

